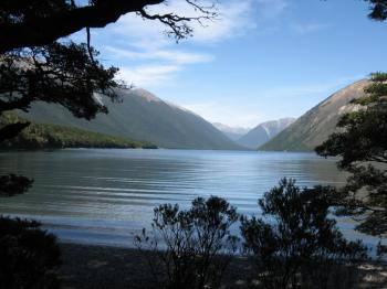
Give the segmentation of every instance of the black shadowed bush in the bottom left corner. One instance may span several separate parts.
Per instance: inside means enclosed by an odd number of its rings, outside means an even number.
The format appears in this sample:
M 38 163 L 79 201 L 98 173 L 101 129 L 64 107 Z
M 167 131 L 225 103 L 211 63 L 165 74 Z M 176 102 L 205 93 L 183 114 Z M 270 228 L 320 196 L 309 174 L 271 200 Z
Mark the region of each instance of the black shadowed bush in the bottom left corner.
M 0 216 L 0 289 L 60 288 L 56 238 L 34 221 Z

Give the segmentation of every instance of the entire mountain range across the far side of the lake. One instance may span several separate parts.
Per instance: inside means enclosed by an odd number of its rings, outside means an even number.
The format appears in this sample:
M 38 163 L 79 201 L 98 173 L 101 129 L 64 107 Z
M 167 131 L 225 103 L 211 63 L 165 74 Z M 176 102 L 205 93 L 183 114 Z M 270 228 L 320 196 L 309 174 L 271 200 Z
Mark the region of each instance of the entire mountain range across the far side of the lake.
M 46 103 L 36 103 L 30 113 L 18 114 L 35 124 L 148 141 L 164 148 L 311 151 L 335 131 L 342 115 L 356 109 L 349 101 L 362 96 L 367 84 L 368 81 L 359 81 L 338 90 L 296 120 L 266 121 L 251 130 L 219 122 L 211 125 L 192 111 L 142 88 L 117 90 L 122 103 L 111 103 L 102 97 L 109 113 L 100 114 L 91 121 L 77 119 L 63 107 Z

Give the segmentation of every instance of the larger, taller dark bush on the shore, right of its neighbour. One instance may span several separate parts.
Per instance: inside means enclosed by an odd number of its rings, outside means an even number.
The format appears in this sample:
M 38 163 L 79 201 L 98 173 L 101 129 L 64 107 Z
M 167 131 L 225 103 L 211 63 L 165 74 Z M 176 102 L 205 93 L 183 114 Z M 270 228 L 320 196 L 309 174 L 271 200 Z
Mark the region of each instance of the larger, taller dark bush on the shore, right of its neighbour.
M 300 189 L 293 180 L 283 179 L 259 200 L 264 220 L 241 218 L 243 247 L 262 287 L 330 288 L 338 265 L 366 258 L 362 243 L 345 240 L 336 222 L 328 218 L 331 191 Z

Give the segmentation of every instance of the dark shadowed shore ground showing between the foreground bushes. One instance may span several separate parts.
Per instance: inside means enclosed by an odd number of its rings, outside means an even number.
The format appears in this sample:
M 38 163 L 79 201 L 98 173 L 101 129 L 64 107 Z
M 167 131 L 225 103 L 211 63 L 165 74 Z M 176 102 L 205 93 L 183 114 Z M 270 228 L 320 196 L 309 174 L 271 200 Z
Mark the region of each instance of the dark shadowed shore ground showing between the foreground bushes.
M 136 249 L 61 244 L 63 265 L 60 278 L 71 288 L 158 288 L 143 254 Z M 244 258 L 234 258 L 224 274 L 222 288 L 248 288 L 253 269 Z M 360 266 L 355 288 L 387 288 L 387 265 Z

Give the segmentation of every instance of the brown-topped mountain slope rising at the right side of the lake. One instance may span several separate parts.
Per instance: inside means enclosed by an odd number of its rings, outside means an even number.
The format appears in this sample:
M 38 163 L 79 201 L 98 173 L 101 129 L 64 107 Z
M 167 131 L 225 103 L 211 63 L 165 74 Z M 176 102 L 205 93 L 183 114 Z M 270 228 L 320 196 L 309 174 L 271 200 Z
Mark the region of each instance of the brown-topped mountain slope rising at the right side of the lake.
M 356 82 L 313 107 L 275 138 L 260 147 L 260 150 L 311 151 L 335 131 L 341 116 L 357 109 L 349 104 L 364 95 L 368 81 Z

